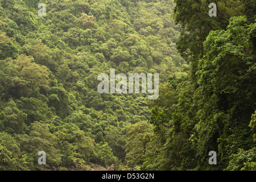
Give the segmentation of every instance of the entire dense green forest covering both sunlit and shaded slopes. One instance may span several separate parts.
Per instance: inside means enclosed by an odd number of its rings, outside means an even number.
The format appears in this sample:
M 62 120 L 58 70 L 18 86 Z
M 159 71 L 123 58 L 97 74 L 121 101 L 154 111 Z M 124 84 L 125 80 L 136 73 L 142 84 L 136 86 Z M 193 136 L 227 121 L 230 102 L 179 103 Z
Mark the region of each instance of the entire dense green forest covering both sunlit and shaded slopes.
M 0 170 L 256 170 L 256 5 L 214 3 L 0 0 Z M 158 99 L 98 93 L 110 69 Z

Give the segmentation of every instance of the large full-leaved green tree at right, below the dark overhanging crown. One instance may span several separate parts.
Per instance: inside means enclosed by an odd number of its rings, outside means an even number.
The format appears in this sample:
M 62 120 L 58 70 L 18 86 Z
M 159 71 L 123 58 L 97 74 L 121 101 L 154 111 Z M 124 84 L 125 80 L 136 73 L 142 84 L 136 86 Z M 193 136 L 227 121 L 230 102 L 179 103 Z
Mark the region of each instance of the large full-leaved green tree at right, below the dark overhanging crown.
M 248 122 L 256 100 L 255 55 L 249 39 L 252 26 L 240 16 L 230 19 L 226 31 L 210 32 L 204 43 L 207 53 L 199 61 L 199 85 L 215 110 L 210 118 L 218 118 L 214 122 L 219 128 L 216 135 L 221 135 L 218 148 L 222 159 L 228 158 L 237 148 L 251 144 Z M 230 133 L 230 129 L 233 132 Z M 241 134 L 247 136 L 243 141 Z

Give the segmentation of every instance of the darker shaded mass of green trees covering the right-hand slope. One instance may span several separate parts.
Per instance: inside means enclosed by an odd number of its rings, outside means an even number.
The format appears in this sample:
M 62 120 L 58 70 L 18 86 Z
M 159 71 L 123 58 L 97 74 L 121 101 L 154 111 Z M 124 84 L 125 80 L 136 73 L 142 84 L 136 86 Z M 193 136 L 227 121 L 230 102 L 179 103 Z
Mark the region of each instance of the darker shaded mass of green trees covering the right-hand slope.
M 150 142 L 162 144 L 142 168 L 255 170 L 255 3 L 217 1 L 217 17 L 209 18 L 206 1 L 175 2 L 183 25 L 177 49 L 191 69 L 171 75 L 150 103 Z M 209 165 L 209 151 L 217 165 Z

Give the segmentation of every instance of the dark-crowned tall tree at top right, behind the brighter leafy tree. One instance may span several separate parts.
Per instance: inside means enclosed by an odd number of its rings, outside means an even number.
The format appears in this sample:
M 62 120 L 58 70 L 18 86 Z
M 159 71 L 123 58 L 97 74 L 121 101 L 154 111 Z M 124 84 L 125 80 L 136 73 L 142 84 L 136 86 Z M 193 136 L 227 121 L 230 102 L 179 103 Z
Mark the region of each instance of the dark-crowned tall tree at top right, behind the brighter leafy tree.
M 210 31 L 224 30 L 232 16 L 242 15 L 243 3 L 240 1 L 215 1 L 217 17 L 209 18 L 208 1 L 175 0 L 175 21 L 183 27 L 177 49 L 184 59 L 191 61 L 192 78 L 196 81 L 198 61 L 204 55 L 203 42 Z

